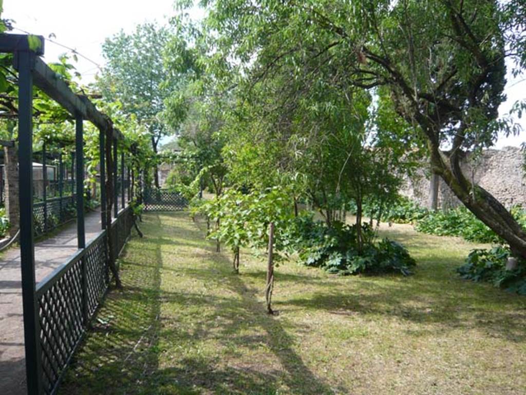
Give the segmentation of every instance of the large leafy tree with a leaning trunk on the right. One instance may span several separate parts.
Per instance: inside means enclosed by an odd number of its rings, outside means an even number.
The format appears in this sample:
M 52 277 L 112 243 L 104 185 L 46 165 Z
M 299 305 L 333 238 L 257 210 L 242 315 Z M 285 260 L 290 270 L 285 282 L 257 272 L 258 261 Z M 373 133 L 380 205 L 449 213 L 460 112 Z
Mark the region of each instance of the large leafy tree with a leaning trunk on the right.
M 524 12 L 522 2 L 204 3 L 206 24 L 219 37 L 225 61 L 239 64 L 251 84 L 281 76 L 276 102 L 292 97 L 297 81 L 317 81 L 320 64 L 332 65 L 335 84 L 385 87 L 398 116 L 414 126 L 408 139 L 426 144 L 433 172 L 514 254 L 526 257 L 526 232 L 460 167 L 469 150 L 491 146 L 502 130 L 517 132 L 509 120 L 498 119 L 498 107 L 504 59 L 513 57 L 517 72 L 526 59 L 517 52 L 524 47 L 523 21 L 515 17 Z

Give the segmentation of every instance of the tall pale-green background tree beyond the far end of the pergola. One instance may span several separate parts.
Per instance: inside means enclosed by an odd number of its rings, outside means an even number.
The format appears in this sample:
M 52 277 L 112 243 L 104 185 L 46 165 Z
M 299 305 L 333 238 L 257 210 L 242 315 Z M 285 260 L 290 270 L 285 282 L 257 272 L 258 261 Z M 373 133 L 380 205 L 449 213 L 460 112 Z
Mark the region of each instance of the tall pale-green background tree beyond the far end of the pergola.
M 120 31 L 107 38 L 103 44 L 107 64 L 97 80 L 106 101 L 119 101 L 125 113 L 135 115 L 146 127 L 155 154 L 160 139 L 175 132 L 163 121 L 165 100 L 176 85 L 163 57 L 169 40 L 170 29 L 155 23 L 138 25 L 131 34 Z M 159 187 L 157 164 L 154 181 Z

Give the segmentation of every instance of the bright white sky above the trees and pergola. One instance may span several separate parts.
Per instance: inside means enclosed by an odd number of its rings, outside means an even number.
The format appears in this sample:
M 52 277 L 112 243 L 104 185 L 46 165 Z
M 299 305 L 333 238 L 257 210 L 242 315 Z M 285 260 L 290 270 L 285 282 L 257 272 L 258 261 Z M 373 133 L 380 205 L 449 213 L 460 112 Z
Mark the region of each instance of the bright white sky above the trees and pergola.
M 190 15 L 198 18 L 199 11 Z M 54 34 L 53 41 L 74 48 L 82 56 L 75 64 L 82 74 L 83 83 L 93 81 L 98 66 L 104 65 L 102 44 L 105 38 L 124 29 L 133 31 L 137 24 L 156 20 L 167 22 L 174 15 L 173 0 L 4 0 L 4 18 L 14 19 L 14 26 L 47 38 Z M 15 30 L 14 33 L 21 33 Z M 64 47 L 49 42 L 45 44 L 46 62 L 55 62 L 60 54 L 68 52 Z M 98 65 L 98 66 L 97 66 Z M 513 78 L 508 75 L 505 88 L 508 100 L 499 108 L 501 115 L 507 114 L 517 100 L 526 98 L 526 76 Z M 497 148 L 507 145 L 519 146 L 526 141 L 526 118 L 515 120 L 522 125 L 519 136 L 501 137 Z

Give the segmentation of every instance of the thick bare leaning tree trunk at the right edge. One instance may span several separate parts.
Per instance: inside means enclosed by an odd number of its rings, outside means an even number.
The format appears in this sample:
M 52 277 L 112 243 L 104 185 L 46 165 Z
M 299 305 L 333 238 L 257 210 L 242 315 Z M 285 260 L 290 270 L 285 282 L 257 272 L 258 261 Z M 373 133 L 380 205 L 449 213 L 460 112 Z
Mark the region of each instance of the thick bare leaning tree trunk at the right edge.
M 468 181 L 460 168 L 458 150 L 446 155 L 431 146 L 431 164 L 466 208 L 508 242 L 514 255 L 526 259 L 526 232 L 491 193 Z

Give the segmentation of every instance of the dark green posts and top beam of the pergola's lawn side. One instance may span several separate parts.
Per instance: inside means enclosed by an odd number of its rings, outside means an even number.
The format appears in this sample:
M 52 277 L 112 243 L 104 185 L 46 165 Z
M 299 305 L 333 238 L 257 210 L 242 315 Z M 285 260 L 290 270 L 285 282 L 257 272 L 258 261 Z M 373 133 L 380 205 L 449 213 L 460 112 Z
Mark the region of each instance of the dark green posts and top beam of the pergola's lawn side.
M 37 86 L 58 104 L 62 105 L 75 118 L 75 156 L 76 156 L 76 201 L 77 201 L 77 244 L 79 252 L 86 247 L 84 230 L 84 154 L 83 154 L 83 121 L 92 122 L 99 130 L 100 180 L 102 229 L 109 228 L 106 222 L 106 169 L 105 169 L 105 136 L 110 132 L 113 140 L 114 171 L 114 208 L 117 217 L 117 141 L 122 134 L 113 127 L 108 116 L 99 112 L 86 96 L 75 94 L 40 58 L 44 54 L 44 38 L 37 36 L 41 42 L 39 48 L 31 48 L 28 35 L 0 34 L 0 53 L 14 54 L 14 67 L 18 72 L 18 157 L 19 157 L 19 194 L 20 210 L 20 251 L 22 270 L 22 297 L 24 315 L 24 341 L 27 392 L 43 392 L 41 374 L 41 355 L 38 338 L 38 306 L 35 299 L 35 251 L 33 223 L 33 86 Z M 124 152 L 121 154 L 124 164 Z M 124 165 L 121 180 L 124 179 Z M 124 198 L 124 182 L 122 182 Z M 123 199 L 124 202 L 124 199 Z

